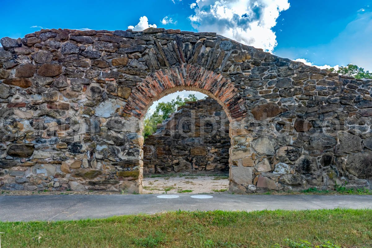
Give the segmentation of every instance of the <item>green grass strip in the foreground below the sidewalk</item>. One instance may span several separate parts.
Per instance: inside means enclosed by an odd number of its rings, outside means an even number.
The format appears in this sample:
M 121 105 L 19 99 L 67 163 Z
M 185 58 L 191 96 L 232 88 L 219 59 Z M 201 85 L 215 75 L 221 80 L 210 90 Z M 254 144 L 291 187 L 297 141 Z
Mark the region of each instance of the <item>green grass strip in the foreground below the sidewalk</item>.
M 0 232 L 6 248 L 367 248 L 372 246 L 372 210 L 177 211 L 0 222 Z

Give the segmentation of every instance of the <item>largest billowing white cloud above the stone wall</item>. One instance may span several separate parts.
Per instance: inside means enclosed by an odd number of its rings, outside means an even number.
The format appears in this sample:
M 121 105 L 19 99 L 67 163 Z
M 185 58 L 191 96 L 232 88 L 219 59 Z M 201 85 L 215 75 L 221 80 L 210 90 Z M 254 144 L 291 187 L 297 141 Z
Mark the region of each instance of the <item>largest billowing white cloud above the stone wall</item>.
M 288 0 L 196 0 L 189 16 L 198 31 L 217 32 L 246 45 L 272 52 L 277 45 L 271 29 Z

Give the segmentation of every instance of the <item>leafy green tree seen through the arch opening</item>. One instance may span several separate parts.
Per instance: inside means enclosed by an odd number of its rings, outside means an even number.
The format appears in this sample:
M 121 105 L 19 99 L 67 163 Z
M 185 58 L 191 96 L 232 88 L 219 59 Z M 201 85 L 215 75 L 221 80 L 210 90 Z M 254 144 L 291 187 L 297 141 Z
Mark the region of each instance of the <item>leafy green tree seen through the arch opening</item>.
M 157 129 L 157 124 L 169 118 L 171 113 L 177 111 L 177 108 L 186 104 L 186 102 L 195 102 L 198 98 L 194 94 L 189 94 L 187 97 L 177 96 L 170 102 L 160 102 L 155 107 L 154 113 L 147 112 L 144 119 L 144 129 L 142 135 L 147 136 L 153 134 Z

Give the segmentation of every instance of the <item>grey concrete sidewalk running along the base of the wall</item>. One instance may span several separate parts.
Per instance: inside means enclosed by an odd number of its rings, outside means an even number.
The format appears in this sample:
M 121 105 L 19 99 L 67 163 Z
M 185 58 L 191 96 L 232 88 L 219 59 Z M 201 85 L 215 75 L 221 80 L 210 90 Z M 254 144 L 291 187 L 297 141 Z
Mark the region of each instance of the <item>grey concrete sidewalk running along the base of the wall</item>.
M 177 194 L 160 199 L 158 194 L 0 196 L 1 221 L 72 220 L 106 218 L 114 215 L 158 213 L 175 210 L 264 210 L 264 209 L 372 209 L 370 195 L 236 195 Z

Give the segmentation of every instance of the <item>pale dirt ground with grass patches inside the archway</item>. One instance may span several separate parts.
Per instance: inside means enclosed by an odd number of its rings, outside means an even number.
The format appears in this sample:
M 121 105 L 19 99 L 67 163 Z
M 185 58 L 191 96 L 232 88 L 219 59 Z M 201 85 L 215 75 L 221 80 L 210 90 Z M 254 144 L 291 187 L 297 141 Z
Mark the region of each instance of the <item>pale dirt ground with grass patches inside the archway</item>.
M 183 177 L 145 177 L 144 194 L 171 193 L 223 193 L 229 186 L 227 176 L 183 176 Z

